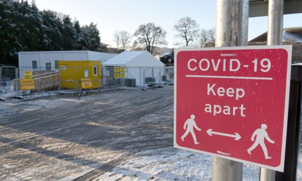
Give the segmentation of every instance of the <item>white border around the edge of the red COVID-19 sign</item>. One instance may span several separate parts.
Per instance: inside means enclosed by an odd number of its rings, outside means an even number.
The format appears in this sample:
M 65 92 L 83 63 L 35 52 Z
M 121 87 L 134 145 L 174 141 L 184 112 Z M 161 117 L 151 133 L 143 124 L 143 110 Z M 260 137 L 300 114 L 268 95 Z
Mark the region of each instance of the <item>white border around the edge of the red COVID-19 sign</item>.
M 283 139 L 282 139 L 282 149 L 281 149 L 281 163 L 279 166 L 273 167 L 260 163 L 248 162 L 241 159 L 236 159 L 233 157 L 228 157 L 225 155 L 210 153 L 206 151 L 200 151 L 196 149 L 191 149 L 187 147 L 182 147 L 176 143 L 176 96 L 177 96 L 177 54 L 184 51 L 209 51 L 209 50 L 255 50 L 255 49 L 284 49 L 287 54 L 287 75 L 286 75 L 286 90 L 285 90 L 285 105 L 284 105 L 284 120 L 283 120 Z M 290 87 L 290 73 L 291 73 L 291 57 L 292 57 L 292 45 L 263 45 L 263 46 L 245 46 L 245 47 L 215 47 L 215 48 L 179 48 L 174 50 L 174 135 L 173 135 L 173 146 L 174 148 L 189 150 L 197 153 L 204 153 L 211 156 L 216 156 L 228 160 L 233 160 L 236 162 L 252 164 L 260 167 L 264 167 L 271 170 L 276 170 L 283 172 L 284 170 L 284 159 L 285 159 L 285 145 L 286 145 L 286 130 L 287 130 L 287 117 L 288 117 L 288 103 L 289 103 L 289 87 Z

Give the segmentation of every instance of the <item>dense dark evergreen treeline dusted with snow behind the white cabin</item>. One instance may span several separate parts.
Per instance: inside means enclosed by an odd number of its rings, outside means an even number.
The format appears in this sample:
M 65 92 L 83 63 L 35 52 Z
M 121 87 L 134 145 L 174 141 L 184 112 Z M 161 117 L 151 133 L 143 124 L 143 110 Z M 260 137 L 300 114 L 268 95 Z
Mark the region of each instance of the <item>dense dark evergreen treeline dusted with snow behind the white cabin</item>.
M 0 64 L 18 64 L 21 51 L 102 51 L 96 24 L 38 10 L 35 1 L 0 0 Z

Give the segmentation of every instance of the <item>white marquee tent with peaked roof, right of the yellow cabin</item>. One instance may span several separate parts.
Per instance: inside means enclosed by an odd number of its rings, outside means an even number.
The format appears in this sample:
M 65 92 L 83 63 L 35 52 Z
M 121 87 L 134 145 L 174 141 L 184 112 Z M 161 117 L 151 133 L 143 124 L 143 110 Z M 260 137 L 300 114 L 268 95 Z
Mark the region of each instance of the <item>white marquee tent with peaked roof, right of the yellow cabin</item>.
M 165 75 L 165 64 L 148 51 L 125 51 L 110 58 L 102 66 L 105 67 L 103 75 L 111 78 L 113 77 L 112 67 L 125 67 L 125 78 L 135 79 L 136 86 L 142 86 L 151 81 L 159 84 L 162 82 L 162 76 Z

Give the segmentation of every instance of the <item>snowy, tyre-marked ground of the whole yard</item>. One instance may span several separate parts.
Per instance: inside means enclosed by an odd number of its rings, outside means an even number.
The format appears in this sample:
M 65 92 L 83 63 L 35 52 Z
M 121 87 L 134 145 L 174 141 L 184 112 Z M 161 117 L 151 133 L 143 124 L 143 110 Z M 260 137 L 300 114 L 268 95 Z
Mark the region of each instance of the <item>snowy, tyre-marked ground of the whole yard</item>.
M 0 180 L 210 181 L 212 157 L 172 141 L 172 86 L 0 102 Z

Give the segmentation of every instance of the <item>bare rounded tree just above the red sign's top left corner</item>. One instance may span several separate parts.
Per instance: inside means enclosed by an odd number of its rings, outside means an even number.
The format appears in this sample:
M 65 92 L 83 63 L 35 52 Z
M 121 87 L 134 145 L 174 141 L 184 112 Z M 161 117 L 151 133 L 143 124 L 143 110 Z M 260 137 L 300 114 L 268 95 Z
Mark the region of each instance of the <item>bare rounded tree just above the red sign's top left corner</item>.
M 181 18 L 173 26 L 173 29 L 176 30 L 176 38 L 181 39 L 186 43 L 186 46 L 189 45 L 189 42 L 193 42 L 198 37 L 199 25 L 195 20 L 190 17 Z

